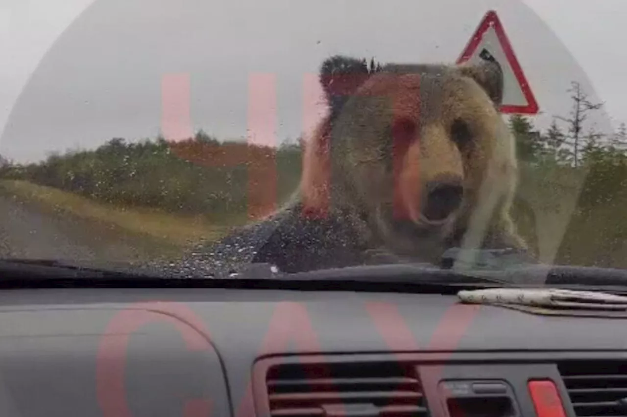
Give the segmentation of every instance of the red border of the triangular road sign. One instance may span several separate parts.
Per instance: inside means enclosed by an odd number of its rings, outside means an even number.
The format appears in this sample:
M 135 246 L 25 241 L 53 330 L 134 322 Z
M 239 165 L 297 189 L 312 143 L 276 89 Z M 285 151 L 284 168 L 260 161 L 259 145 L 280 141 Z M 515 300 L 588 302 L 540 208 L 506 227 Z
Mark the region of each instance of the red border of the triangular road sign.
M 479 23 L 479 26 L 477 26 L 477 29 L 475 30 L 475 33 L 473 33 L 470 41 L 468 41 L 466 47 L 463 49 L 460 58 L 457 59 L 457 64 L 461 64 L 470 59 L 472 54 L 481 43 L 482 35 L 486 33 L 488 29 L 490 29 L 490 26 L 494 27 L 494 30 L 497 33 L 498 41 L 503 48 L 503 52 L 507 57 L 507 61 L 512 67 L 512 71 L 514 71 L 516 80 L 519 83 L 520 90 L 522 90 L 522 93 L 525 96 L 525 100 L 527 100 L 526 106 L 503 105 L 500 108 L 501 113 L 518 113 L 523 115 L 537 114 L 539 111 L 538 102 L 537 100 L 535 100 L 534 93 L 531 91 L 531 87 L 529 86 L 527 77 L 525 77 L 522 66 L 520 66 L 520 63 L 516 58 L 514 48 L 512 48 L 512 44 L 510 43 L 507 34 L 505 34 L 505 29 L 503 29 L 503 24 L 498 18 L 496 11 L 490 10 L 488 11 L 488 13 L 485 14 L 485 16 L 483 16 L 481 23 Z

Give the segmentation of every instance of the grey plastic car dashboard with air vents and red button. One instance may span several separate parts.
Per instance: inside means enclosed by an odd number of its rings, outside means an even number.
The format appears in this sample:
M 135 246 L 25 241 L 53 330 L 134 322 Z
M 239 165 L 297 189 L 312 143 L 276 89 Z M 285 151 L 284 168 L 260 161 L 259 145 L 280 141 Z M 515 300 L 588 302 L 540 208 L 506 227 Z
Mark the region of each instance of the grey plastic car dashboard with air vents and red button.
M 627 415 L 623 318 L 332 289 L 0 297 L 2 416 Z

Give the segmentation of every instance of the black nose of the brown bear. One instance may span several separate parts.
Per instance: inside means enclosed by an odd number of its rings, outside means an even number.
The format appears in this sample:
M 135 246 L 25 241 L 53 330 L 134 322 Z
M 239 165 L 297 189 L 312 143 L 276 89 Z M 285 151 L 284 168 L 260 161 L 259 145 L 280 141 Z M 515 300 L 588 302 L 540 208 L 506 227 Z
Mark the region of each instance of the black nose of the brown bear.
M 437 180 L 426 185 L 423 216 L 430 222 L 446 220 L 461 205 L 464 188 L 461 180 Z

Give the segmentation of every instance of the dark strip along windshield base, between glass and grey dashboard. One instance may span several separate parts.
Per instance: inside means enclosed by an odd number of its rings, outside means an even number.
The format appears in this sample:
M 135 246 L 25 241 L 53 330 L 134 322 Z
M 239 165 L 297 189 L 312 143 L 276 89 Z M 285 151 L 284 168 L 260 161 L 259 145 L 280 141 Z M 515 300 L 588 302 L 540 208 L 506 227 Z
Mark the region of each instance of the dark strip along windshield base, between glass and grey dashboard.
M 107 267 L 63 260 L 2 259 L 0 288 L 26 287 L 216 287 L 240 289 L 296 289 L 347 291 L 436 292 L 456 294 L 462 289 L 495 287 L 554 287 L 587 291 L 627 292 L 627 270 L 599 267 L 525 264 L 447 268 L 432 264 L 361 265 L 277 272 L 269 264 L 251 264 L 225 277 L 176 275 L 159 267 L 107 263 Z

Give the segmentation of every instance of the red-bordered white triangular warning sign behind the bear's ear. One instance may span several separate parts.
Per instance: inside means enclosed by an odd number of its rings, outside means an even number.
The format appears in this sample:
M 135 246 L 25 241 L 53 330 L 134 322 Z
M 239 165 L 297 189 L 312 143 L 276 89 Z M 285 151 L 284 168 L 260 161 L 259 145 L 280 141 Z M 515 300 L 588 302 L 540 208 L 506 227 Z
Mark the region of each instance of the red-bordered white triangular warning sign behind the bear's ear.
M 538 103 L 535 101 L 503 25 L 493 10 L 485 14 L 457 63 L 466 61 L 478 63 L 482 59 L 497 61 L 503 70 L 503 103 L 500 108 L 502 113 L 525 115 L 538 113 Z

